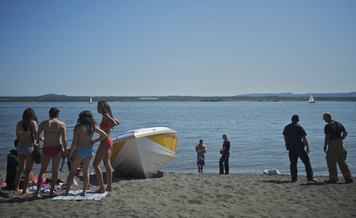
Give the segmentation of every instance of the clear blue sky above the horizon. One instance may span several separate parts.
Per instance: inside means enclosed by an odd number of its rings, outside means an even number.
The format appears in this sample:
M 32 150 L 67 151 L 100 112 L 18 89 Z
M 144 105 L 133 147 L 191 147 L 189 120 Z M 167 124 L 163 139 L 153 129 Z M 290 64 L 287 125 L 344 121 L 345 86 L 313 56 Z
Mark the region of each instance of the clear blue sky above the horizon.
M 0 96 L 356 91 L 356 1 L 0 1 Z

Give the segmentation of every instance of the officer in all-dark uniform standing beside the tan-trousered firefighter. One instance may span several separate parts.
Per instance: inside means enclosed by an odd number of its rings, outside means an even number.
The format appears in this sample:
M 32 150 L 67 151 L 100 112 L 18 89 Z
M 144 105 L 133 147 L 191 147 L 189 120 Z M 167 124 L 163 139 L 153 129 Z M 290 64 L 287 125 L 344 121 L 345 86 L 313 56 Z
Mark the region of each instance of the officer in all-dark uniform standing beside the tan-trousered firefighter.
M 300 126 L 298 122 L 298 115 L 293 115 L 292 123 L 284 127 L 283 130 L 284 142 L 286 143 L 287 150 L 289 150 L 290 175 L 292 176 L 292 182 L 298 181 L 298 157 L 305 165 L 305 171 L 307 172 L 307 180 L 317 181 L 317 179 L 313 178 L 313 169 L 308 156 L 309 145 L 307 138 L 305 138 L 307 133 L 305 133 L 304 128 Z M 307 151 L 304 150 L 304 147 L 307 147 Z

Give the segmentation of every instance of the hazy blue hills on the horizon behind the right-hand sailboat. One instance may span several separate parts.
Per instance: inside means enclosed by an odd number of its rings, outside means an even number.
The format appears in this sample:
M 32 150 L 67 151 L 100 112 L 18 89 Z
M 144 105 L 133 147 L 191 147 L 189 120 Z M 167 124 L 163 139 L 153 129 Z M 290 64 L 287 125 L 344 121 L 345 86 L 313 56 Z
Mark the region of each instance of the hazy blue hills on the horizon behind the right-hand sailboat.
M 251 97 L 263 97 L 263 96 L 277 96 L 277 97 L 309 97 L 310 93 L 306 94 L 293 94 L 290 92 L 283 92 L 283 93 L 253 93 L 253 94 L 244 94 L 244 95 L 236 95 L 239 97 L 243 96 L 251 96 Z M 356 97 L 356 92 L 349 92 L 349 93 L 313 93 L 313 97 Z

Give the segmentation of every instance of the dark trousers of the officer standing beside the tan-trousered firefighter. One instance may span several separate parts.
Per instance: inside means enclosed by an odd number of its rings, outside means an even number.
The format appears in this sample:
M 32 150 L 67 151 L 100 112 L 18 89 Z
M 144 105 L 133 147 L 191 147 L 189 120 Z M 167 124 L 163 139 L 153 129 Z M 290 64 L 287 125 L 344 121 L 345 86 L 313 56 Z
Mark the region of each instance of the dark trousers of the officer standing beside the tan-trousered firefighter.
M 292 176 L 292 181 L 297 180 L 298 176 L 298 169 L 297 169 L 297 162 L 298 157 L 302 160 L 305 166 L 305 172 L 307 172 L 307 179 L 313 179 L 313 169 L 312 165 L 310 164 L 309 156 L 304 148 L 295 148 L 289 150 L 289 160 L 290 160 L 290 175 Z

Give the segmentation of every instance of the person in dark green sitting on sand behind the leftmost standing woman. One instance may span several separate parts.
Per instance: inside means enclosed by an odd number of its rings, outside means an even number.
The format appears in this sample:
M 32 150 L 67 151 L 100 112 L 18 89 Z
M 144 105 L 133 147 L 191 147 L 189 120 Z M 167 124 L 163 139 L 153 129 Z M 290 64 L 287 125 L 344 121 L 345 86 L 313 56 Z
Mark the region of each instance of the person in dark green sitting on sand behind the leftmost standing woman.
M 5 183 L 7 187 L 14 188 L 15 186 L 15 177 L 16 172 L 19 170 L 19 159 L 17 158 L 17 146 L 19 145 L 19 139 L 14 141 L 15 149 L 10 150 L 10 153 L 7 155 L 7 166 L 6 166 L 6 180 Z M 23 174 L 20 179 L 19 188 L 23 188 L 23 183 L 25 181 L 26 168 L 23 171 Z M 28 182 L 27 187 L 36 186 L 37 181 L 33 179 L 33 174 L 30 174 L 30 181 Z

